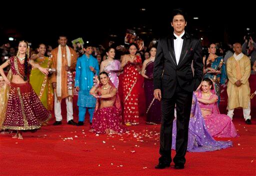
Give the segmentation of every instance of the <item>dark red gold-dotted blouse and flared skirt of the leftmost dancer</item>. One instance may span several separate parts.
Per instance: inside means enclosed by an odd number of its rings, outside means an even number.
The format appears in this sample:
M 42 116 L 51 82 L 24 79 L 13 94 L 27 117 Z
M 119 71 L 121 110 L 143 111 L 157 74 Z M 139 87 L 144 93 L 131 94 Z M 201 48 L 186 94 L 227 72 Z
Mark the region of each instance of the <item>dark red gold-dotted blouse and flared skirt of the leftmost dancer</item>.
M 10 57 L 8 62 L 13 75 L 24 76 L 24 64 L 16 56 Z M 10 82 L 5 111 L 2 129 L 36 129 L 51 117 L 51 113 L 43 106 L 29 82 Z

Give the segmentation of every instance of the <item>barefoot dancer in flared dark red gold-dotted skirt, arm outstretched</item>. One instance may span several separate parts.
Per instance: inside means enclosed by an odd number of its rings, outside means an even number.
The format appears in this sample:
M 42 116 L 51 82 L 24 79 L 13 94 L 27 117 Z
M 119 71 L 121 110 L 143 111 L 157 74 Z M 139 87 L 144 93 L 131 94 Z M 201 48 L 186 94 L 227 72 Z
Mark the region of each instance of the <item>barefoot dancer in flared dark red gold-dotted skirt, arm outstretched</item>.
M 26 76 L 28 63 L 37 67 L 44 74 L 48 74 L 48 71 L 28 58 L 29 46 L 26 41 L 22 40 L 18 44 L 17 56 L 10 57 L 0 65 L 0 74 L 5 83 L 9 85 L 6 109 L 0 112 L 1 114 L 4 113 L 5 116 L 1 128 L 17 130 L 13 138 L 18 139 L 23 139 L 22 130 L 40 128 L 41 124 L 51 117 L 50 112 L 45 109 Z M 7 78 L 3 68 L 8 65 L 10 65 L 10 71 Z

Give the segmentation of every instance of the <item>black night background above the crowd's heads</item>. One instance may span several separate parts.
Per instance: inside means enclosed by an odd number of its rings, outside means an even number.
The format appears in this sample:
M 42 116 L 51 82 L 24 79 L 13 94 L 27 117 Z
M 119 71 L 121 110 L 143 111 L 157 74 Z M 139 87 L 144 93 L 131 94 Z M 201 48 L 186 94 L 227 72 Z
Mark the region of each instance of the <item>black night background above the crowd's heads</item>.
M 169 14 L 177 7 L 182 7 L 188 14 L 185 30 L 195 37 L 203 37 L 203 45 L 209 42 L 243 42 L 243 36 L 248 32 L 246 28 L 254 32 L 256 24 L 253 6 L 242 4 L 242 1 L 225 5 L 223 1 L 184 1 L 167 5 L 166 1 L 159 0 L 150 3 L 54 2 L 59 5 L 52 5 L 49 1 L 27 2 L 31 7 L 24 2 L 13 3 L 15 5 L 5 4 L 0 11 L 0 44 L 12 36 L 16 41 L 25 39 L 31 42 L 32 47 L 40 42 L 55 47 L 60 33 L 67 35 L 69 45 L 77 37 L 93 44 L 106 45 L 110 39 L 122 43 L 127 28 L 135 29 L 146 44 L 152 38 L 172 32 Z M 192 19 L 194 16 L 199 19 Z

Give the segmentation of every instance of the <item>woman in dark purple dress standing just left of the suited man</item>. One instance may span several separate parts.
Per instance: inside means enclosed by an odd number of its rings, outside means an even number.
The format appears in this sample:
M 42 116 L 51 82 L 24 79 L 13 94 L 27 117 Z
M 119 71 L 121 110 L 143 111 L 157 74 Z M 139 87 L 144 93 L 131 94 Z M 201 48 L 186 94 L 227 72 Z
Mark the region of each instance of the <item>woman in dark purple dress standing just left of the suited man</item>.
M 141 75 L 144 77 L 144 90 L 146 100 L 146 123 L 155 124 L 161 122 L 160 101 L 154 98 L 153 68 L 156 48 L 150 48 L 150 57 L 144 60 L 141 68 Z

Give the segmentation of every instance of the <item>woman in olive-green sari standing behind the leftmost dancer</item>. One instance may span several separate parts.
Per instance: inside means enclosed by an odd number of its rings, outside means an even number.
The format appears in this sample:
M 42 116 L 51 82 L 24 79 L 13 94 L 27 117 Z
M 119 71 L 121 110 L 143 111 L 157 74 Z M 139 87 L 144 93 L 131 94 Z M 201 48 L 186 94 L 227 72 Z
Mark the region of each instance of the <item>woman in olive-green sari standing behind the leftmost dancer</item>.
M 51 64 L 51 58 L 45 56 L 45 44 L 39 44 L 37 51 L 38 53 L 33 54 L 31 56 L 31 59 L 34 60 L 35 63 L 39 64 L 41 67 L 49 68 Z M 50 76 L 43 74 L 38 68 L 32 67 L 29 76 L 29 82 L 44 107 L 48 110 L 52 110 L 53 89 L 51 86 Z

